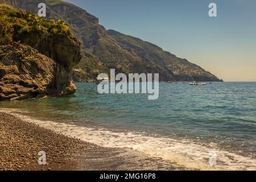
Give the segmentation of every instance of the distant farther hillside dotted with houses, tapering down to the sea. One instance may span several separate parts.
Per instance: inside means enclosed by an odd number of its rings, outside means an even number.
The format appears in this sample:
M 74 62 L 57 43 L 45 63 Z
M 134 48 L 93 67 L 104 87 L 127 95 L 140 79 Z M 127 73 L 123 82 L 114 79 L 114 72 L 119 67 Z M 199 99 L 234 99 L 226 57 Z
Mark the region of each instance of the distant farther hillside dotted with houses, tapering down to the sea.
M 123 49 L 133 52 L 152 64 L 159 65 L 159 67 L 167 72 L 171 72 L 177 81 L 218 80 L 216 76 L 205 71 L 198 65 L 192 64 L 186 59 L 176 57 L 170 52 L 163 51 L 162 48 L 154 44 L 144 42 L 133 36 L 121 34 L 114 30 L 108 30 L 108 34 L 112 36 L 113 39 L 117 40 Z

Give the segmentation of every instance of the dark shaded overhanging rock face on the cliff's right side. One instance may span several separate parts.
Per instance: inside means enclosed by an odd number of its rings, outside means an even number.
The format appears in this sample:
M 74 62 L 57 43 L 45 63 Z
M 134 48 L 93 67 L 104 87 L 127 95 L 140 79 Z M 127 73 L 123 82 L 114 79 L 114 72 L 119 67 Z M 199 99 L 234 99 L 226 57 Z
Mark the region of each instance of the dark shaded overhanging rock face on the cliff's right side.
M 23 44 L 30 45 L 43 55 L 54 60 L 56 62 L 56 90 L 64 89 L 61 95 L 73 93 L 65 92 L 65 88 L 69 88 L 72 81 L 72 69 L 81 60 L 80 43 L 76 39 L 69 38 L 68 36 L 39 35 L 34 32 L 15 39 L 20 40 Z M 72 88 L 74 88 L 75 92 L 75 85 L 72 84 Z

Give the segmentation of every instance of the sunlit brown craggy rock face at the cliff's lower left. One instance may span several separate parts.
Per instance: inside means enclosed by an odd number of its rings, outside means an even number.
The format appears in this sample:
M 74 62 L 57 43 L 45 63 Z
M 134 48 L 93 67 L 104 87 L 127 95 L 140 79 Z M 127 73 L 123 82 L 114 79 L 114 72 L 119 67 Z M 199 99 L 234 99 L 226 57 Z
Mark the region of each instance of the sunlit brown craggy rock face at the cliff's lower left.
M 31 47 L 0 46 L 0 60 L 0 100 L 63 96 L 76 90 L 71 80 L 59 84 L 61 65 Z

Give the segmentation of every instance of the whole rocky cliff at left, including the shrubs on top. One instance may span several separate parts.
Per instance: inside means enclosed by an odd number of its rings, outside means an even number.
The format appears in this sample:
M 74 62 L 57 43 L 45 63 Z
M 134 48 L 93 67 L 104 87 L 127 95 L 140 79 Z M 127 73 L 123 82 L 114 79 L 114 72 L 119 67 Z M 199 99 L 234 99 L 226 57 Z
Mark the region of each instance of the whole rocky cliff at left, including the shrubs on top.
M 65 96 L 80 42 L 62 21 L 0 5 L 0 100 Z

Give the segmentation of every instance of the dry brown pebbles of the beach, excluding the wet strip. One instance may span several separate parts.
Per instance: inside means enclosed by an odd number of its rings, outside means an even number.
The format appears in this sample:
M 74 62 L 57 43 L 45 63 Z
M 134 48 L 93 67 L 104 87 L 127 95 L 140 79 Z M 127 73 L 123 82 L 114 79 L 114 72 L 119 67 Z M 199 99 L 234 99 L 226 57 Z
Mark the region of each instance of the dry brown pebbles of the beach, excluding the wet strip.
M 2 112 L 0 131 L 0 171 L 79 170 L 79 156 L 94 146 Z M 46 152 L 46 165 L 39 165 L 39 151 Z

